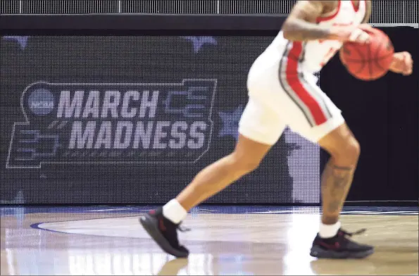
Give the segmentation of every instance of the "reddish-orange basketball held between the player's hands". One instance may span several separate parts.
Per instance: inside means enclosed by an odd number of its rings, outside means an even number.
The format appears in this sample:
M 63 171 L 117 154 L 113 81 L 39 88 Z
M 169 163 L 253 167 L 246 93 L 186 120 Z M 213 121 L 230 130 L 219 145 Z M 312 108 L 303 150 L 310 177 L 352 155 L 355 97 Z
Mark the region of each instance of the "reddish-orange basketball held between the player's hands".
M 360 27 L 370 35 L 369 44 L 346 42 L 339 56 L 346 70 L 359 80 L 377 80 L 389 70 L 394 48 L 384 32 L 373 27 Z

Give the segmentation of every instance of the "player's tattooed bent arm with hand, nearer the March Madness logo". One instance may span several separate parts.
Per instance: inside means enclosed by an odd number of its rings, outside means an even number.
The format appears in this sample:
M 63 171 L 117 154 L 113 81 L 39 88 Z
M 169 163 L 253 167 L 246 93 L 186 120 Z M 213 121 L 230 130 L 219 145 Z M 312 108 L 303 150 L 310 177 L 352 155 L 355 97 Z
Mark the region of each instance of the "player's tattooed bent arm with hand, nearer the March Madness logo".
M 290 41 L 306 41 L 316 39 L 337 39 L 339 41 L 365 42 L 368 37 L 358 32 L 353 35 L 354 27 L 324 27 L 316 24 L 325 7 L 330 7 L 334 1 L 298 1 L 282 25 L 284 38 Z M 351 37 L 352 36 L 352 37 Z M 367 35 L 368 36 L 368 35 Z

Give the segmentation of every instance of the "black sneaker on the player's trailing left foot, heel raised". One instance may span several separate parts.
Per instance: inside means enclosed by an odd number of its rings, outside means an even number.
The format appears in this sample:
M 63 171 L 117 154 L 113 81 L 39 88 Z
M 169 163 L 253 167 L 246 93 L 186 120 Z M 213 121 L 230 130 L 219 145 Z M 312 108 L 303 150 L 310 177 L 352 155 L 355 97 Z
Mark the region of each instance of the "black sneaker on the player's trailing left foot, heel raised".
M 176 258 L 187 258 L 189 251 L 179 244 L 177 230 L 181 232 L 189 230 L 181 228 L 180 224 L 177 225 L 165 218 L 162 208 L 149 211 L 139 218 L 139 222 L 163 251 Z

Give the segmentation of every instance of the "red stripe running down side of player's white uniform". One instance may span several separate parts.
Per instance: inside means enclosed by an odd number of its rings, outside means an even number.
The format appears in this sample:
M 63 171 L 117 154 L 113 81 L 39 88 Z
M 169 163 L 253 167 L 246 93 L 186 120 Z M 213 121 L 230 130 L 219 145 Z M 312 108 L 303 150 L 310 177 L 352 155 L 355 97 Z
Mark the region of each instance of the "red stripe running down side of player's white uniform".
M 323 113 L 318 102 L 304 88 L 303 84 L 301 84 L 299 80 L 297 68 L 298 59 L 301 56 L 302 51 L 303 46 L 301 42 L 292 42 L 292 49 L 288 53 L 285 75 L 287 77 L 289 87 L 291 87 L 296 96 L 298 96 L 299 99 L 307 106 L 314 118 L 315 124 L 321 125 L 327 121 L 327 117 L 325 113 Z

